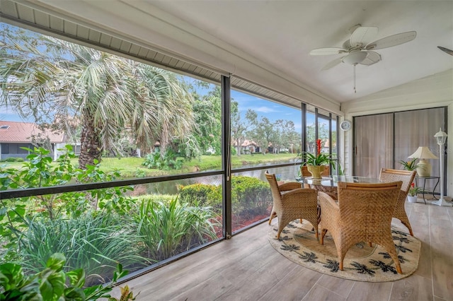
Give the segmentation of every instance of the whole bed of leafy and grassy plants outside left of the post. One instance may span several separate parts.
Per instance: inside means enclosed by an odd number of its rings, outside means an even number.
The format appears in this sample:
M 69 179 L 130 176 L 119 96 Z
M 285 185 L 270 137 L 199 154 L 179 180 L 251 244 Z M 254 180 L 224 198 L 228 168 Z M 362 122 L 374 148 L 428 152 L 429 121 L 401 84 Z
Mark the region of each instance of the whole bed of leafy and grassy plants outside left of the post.
M 0 167 L 0 190 L 113 179 L 99 165 L 74 168 L 69 148 L 57 165 L 50 164 L 43 148 L 30 152 L 21 170 Z M 62 253 L 65 271 L 83 268 L 86 285 L 93 285 L 108 281 L 118 262 L 137 269 L 217 238 L 210 208 L 166 201 L 168 196 L 132 199 L 124 196 L 128 189 L 0 200 L 1 259 L 21 262 L 26 272 L 35 273 L 51 254 Z

